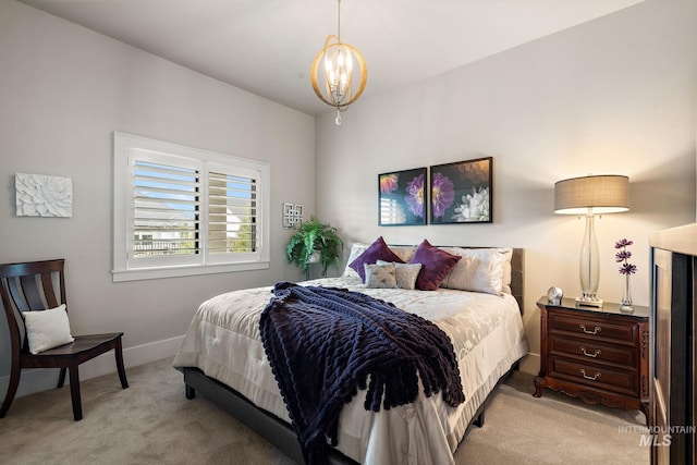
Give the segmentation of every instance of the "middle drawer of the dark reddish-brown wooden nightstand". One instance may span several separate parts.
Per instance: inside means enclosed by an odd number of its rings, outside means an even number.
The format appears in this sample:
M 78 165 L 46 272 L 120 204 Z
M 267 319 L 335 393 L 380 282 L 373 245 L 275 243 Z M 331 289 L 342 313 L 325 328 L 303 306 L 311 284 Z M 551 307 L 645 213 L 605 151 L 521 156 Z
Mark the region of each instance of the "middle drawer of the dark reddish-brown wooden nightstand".
M 629 370 L 636 369 L 637 348 L 635 346 L 603 344 L 602 341 L 552 335 L 549 350 L 552 355 L 576 357 L 589 364 L 604 363 Z

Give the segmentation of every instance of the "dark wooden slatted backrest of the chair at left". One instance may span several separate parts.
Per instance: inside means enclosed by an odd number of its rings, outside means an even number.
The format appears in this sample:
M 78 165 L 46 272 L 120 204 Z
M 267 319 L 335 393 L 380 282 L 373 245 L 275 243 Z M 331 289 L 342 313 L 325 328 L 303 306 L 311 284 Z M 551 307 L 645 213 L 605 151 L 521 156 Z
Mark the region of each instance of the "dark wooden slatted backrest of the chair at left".
M 12 358 L 28 353 L 25 311 L 56 308 L 65 302 L 64 259 L 0 265 L 0 296 L 10 330 Z

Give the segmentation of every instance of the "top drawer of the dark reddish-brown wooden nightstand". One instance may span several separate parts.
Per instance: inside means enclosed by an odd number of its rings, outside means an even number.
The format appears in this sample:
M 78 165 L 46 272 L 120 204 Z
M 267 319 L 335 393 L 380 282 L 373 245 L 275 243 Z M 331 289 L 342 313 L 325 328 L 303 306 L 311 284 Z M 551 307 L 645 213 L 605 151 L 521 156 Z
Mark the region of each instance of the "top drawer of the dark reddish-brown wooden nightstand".
M 612 341 L 625 341 L 635 344 L 637 325 L 631 321 L 609 320 L 603 318 L 586 318 L 565 313 L 553 313 L 549 316 L 551 332 L 567 332 L 583 336 L 595 336 Z

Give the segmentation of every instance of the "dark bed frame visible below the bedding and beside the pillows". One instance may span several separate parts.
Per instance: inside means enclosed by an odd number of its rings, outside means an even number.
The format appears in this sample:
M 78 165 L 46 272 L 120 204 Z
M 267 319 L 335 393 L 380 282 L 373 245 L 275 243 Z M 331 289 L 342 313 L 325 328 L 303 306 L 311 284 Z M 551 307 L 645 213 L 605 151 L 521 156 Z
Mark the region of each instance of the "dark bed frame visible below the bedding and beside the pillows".
M 469 247 L 474 248 L 474 247 Z M 511 259 L 511 293 L 518 303 L 521 313 L 523 313 L 524 303 L 524 249 L 514 248 Z M 517 369 L 516 362 L 511 369 L 497 382 L 487 399 L 481 403 L 475 413 L 470 425 L 481 427 L 484 425 L 484 416 L 493 393 L 498 387 L 508 378 L 511 371 Z M 237 420 L 246 425 L 257 435 L 269 441 L 278 450 L 283 452 L 290 458 L 298 464 L 304 464 L 301 445 L 297 442 L 295 430 L 286 421 L 280 419 L 249 402 L 244 395 L 230 388 L 222 382 L 207 377 L 201 370 L 194 367 L 183 367 L 181 371 L 184 374 L 184 383 L 186 399 L 194 399 L 196 391 L 201 393 L 206 399 L 234 416 Z M 329 464 L 331 465 L 356 465 L 356 462 L 346 457 L 335 449 L 330 450 Z

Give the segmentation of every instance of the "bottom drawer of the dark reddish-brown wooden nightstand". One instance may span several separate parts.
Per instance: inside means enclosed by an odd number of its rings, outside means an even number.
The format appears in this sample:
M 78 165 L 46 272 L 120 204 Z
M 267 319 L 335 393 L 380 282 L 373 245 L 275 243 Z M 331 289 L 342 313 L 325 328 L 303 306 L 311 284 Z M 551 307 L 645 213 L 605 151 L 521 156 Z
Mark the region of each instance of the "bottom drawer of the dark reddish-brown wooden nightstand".
M 550 376 L 626 395 L 639 394 L 638 374 L 551 357 Z

